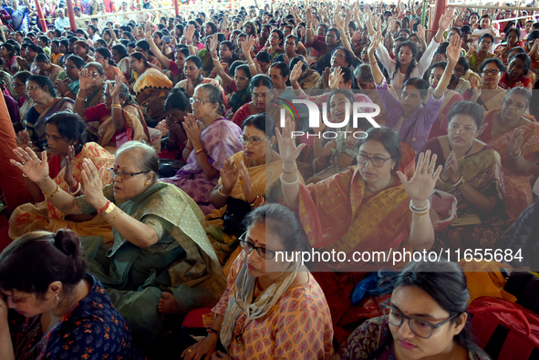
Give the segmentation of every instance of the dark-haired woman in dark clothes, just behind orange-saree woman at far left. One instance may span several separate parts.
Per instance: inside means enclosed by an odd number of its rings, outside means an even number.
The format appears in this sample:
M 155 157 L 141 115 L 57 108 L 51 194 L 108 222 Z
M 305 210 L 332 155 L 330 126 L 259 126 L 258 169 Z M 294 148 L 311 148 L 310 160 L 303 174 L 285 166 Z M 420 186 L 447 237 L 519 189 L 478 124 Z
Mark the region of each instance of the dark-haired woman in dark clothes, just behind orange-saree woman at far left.
M 37 149 L 43 150 L 47 144 L 45 120 L 59 111 L 71 111 L 73 100 L 58 98 L 53 83 L 48 77 L 41 75 L 28 77 L 26 94 L 35 103 L 26 113 L 26 131 Z

